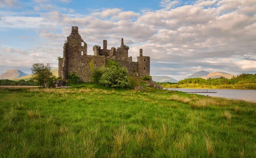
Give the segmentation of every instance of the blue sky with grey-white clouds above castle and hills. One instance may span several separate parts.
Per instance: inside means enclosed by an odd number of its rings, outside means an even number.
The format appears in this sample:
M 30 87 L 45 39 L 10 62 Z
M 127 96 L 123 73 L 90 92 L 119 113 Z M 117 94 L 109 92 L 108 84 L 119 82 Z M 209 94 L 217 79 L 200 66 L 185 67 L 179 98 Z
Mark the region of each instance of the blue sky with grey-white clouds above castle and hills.
M 129 56 L 151 57 L 151 75 L 256 73 L 256 0 L 0 0 L 0 73 L 58 67 L 63 43 L 79 26 L 93 45 L 120 39 Z

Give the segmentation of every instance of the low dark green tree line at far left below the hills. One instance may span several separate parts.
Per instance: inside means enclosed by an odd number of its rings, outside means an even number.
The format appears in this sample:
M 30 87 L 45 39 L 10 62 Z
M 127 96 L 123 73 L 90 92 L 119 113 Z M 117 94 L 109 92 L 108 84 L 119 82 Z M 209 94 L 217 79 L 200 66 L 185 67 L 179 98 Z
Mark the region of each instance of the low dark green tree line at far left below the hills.
M 11 86 L 37 86 L 38 82 L 34 81 L 33 79 L 29 79 L 25 81 L 24 79 L 20 79 L 19 81 L 9 80 L 9 79 L 0 79 L 0 85 L 11 85 Z

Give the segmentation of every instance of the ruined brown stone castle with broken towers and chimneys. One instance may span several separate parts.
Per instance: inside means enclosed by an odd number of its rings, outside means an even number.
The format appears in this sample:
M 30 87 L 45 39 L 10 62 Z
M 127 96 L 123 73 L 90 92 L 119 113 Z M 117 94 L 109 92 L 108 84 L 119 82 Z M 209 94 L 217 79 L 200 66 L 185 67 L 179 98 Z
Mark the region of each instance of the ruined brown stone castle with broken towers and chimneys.
M 83 82 L 90 82 L 92 80 L 90 62 L 93 61 L 94 69 L 97 69 L 105 66 L 108 59 L 113 59 L 127 68 L 129 75 L 149 76 L 150 57 L 143 56 L 143 51 L 140 49 L 137 62 L 133 62 L 132 57 L 128 57 L 128 50 L 129 47 L 124 45 L 123 39 L 120 47 L 112 47 L 110 50 L 108 49 L 107 40 L 103 40 L 102 49 L 99 45 L 95 45 L 93 46 L 94 55 L 87 55 L 87 43 L 81 38 L 78 27 L 72 26 L 71 34 L 67 37 L 67 42 L 63 46 L 63 58 L 59 59 L 58 76 L 65 80 L 70 73 L 76 72 Z

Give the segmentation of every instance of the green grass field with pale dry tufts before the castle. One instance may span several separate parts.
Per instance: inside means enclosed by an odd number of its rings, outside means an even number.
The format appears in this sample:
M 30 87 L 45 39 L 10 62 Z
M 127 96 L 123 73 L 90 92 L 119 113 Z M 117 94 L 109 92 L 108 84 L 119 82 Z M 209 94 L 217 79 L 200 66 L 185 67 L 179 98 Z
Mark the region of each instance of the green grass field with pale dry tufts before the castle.
M 256 157 L 256 103 L 92 83 L 0 87 L 0 157 Z

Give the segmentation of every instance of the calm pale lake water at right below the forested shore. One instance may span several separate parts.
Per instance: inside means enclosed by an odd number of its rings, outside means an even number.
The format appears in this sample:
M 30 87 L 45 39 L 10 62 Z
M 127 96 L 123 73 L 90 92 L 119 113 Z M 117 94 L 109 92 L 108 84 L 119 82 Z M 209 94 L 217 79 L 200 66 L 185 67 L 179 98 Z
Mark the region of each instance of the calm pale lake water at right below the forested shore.
M 217 93 L 195 93 L 195 94 L 256 102 L 256 90 L 218 90 L 217 89 Z

